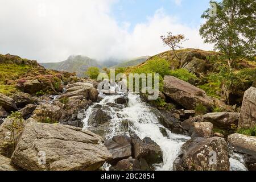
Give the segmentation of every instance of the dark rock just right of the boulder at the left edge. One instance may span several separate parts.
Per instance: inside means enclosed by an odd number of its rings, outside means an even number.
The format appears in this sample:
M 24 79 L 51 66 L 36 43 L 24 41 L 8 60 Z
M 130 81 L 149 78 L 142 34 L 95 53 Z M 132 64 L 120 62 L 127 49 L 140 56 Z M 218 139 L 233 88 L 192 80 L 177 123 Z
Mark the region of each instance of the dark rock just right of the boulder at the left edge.
M 27 93 L 18 92 L 12 97 L 17 107 L 22 108 L 28 104 L 35 104 L 34 98 Z

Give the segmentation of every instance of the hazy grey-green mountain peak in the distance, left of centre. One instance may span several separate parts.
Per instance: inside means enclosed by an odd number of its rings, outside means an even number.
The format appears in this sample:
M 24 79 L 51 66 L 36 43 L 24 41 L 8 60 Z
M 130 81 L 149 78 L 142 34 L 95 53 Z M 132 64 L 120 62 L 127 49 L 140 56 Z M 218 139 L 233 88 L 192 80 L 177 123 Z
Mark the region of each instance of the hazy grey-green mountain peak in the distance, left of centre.
M 47 69 L 55 69 L 57 71 L 66 71 L 70 73 L 76 72 L 77 76 L 79 77 L 83 77 L 84 72 L 86 72 L 89 67 L 102 68 L 102 65 L 98 63 L 97 60 L 90 59 L 89 57 L 81 55 L 69 56 L 67 60 L 61 61 L 59 63 L 40 64 Z

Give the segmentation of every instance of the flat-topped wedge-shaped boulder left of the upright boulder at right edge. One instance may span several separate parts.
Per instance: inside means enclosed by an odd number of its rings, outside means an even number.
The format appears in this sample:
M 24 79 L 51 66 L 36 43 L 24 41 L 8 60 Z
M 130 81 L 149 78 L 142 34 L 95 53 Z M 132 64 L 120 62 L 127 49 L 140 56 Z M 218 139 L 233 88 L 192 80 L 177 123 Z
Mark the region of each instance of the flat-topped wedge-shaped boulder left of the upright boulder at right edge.
M 224 130 L 232 129 L 232 125 L 238 125 L 240 113 L 208 113 L 203 116 L 204 121 L 213 123 L 214 127 Z

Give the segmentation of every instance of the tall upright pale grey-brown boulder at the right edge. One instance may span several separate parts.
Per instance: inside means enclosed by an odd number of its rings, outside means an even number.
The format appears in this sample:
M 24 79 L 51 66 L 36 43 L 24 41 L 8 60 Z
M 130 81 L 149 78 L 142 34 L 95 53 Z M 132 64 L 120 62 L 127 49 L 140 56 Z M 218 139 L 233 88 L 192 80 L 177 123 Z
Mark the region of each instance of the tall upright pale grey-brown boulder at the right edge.
M 238 128 L 251 128 L 256 126 L 256 88 L 246 90 L 243 96 L 241 114 Z

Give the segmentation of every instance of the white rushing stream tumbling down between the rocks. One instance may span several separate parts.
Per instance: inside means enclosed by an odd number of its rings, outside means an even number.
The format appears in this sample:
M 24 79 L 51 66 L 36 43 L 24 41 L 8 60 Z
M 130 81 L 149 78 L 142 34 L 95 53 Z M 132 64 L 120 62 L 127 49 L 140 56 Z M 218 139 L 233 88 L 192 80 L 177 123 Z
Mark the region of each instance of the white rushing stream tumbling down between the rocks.
M 122 97 L 123 94 L 114 94 L 110 96 L 105 96 L 105 98 L 97 105 L 106 106 L 107 103 L 114 103 L 118 97 Z M 106 133 L 106 138 L 110 139 L 115 135 L 119 134 L 128 134 L 122 130 L 121 121 L 123 119 L 128 119 L 131 121 L 129 125 L 130 131 L 133 131 L 138 135 L 139 138 L 143 139 L 144 137 L 150 137 L 154 140 L 163 151 L 163 164 L 155 166 L 156 170 L 168 171 L 172 170 L 174 160 L 179 154 L 180 147 L 183 143 L 190 139 L 185 135 L 173 134 L 170 130 L 166 129 L 168 136 L 164 137 L 160 132 L 160 127 L 164 128 L 158 122 L 156 115 L 150 111 L 150 108 L 141 101 L 139 95 L 128 94 L 129 103 L 127 107 L 121 110 L 115 110 L 110 107 L 110 110 L 107 110 L 112 119 L 110 121 L 110 127 Z M 93 106 L 90 106 L 86 110 L 86 118 L 84 119 L 84 129 L 88 129 L 88 119 L 92 114 Z M 105 111 L 105 110 L 104 110 Z M 230 158 L 232 162 L 231 169 L 242 170 L 246 169 L 242 166 L 241 162 L 237 158 Z

